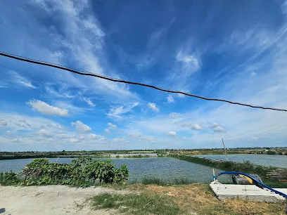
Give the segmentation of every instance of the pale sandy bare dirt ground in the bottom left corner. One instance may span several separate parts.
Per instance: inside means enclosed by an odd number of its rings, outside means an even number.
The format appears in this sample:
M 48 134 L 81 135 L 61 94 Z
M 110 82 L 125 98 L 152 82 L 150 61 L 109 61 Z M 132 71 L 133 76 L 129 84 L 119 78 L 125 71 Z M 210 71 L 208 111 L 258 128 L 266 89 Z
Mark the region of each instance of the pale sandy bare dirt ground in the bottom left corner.
M 69 188 L 65 185 L 13 187 L 0 186 L 0 214 L 112 214 L 92 211 L 88 205 L 77 207 L 87 197 L 99 193 L 127 193 L 108 188 Z

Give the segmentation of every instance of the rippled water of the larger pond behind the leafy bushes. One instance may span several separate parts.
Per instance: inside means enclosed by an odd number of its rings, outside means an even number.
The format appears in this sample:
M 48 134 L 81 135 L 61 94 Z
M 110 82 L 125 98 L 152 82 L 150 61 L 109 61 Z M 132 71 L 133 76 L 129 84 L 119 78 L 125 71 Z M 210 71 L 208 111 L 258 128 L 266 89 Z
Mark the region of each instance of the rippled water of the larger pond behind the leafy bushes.
M 60 158 L 59 163 L 69 163 L 73 158 Z M 33 159 L 7 159 L 0 160 L 0 171 L 20 171 Z M 56 158 L 49 159 L 56 162 Z M 98 159 L 105 160 L 105 159 Z M 209 183 L 212 181 L 212 168 L 200 164 L 186 162 L 172 157 L 152 158 L 118 158 L 113 160 L 116 167 L 122 164 L 129 169 L 129 181 L 141 181 L 142 178 L 155 177 L 165 181 L 172 181 L 174 178 L 186 178 L 197 183 Z M 216 173 L 220 170 L 215 169 Z M 222 176 L 220 181 L 229 180 L 229 177 Z

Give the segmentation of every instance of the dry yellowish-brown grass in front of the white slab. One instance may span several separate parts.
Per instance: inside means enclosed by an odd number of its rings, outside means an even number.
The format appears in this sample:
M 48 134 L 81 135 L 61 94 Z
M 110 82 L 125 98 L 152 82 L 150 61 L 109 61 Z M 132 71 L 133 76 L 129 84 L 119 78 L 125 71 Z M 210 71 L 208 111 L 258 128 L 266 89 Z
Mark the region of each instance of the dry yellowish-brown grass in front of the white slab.
M 167 195 L 189 214 L 285 214 L 284 204 L 247 202 L 244 200 L 219 201 L 208 185 L 190 184 L 174 186 L 132 185 L 133 190 L 151 190 Z

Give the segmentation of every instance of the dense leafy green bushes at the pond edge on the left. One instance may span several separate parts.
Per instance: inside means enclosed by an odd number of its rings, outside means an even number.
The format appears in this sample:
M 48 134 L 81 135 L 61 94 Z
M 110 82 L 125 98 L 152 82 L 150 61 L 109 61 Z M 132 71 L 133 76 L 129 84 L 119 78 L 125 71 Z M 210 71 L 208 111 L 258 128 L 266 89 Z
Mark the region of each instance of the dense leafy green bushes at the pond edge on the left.
M 89 186 L 95 183 L 126 183 L 129 171 L 125 165 L 115 168 L 112 161 L 98 161 L 79 157 L 70 164 L 49 163 L 48 159 L 34 159 L 20 174 L 1 173 L 1 185 L 63 184 Z

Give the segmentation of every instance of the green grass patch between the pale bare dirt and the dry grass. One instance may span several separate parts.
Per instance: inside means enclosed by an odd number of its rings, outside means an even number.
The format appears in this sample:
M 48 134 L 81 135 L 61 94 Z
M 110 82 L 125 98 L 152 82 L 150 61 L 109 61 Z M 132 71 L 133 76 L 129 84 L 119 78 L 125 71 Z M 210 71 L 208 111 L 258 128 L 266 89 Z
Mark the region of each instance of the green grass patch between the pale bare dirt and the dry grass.
M 110 194 L 102 193 L 91 198 L 94 209 L 117 209 L 128 214 L 183 214 L 171 197 L 155 193 Z

